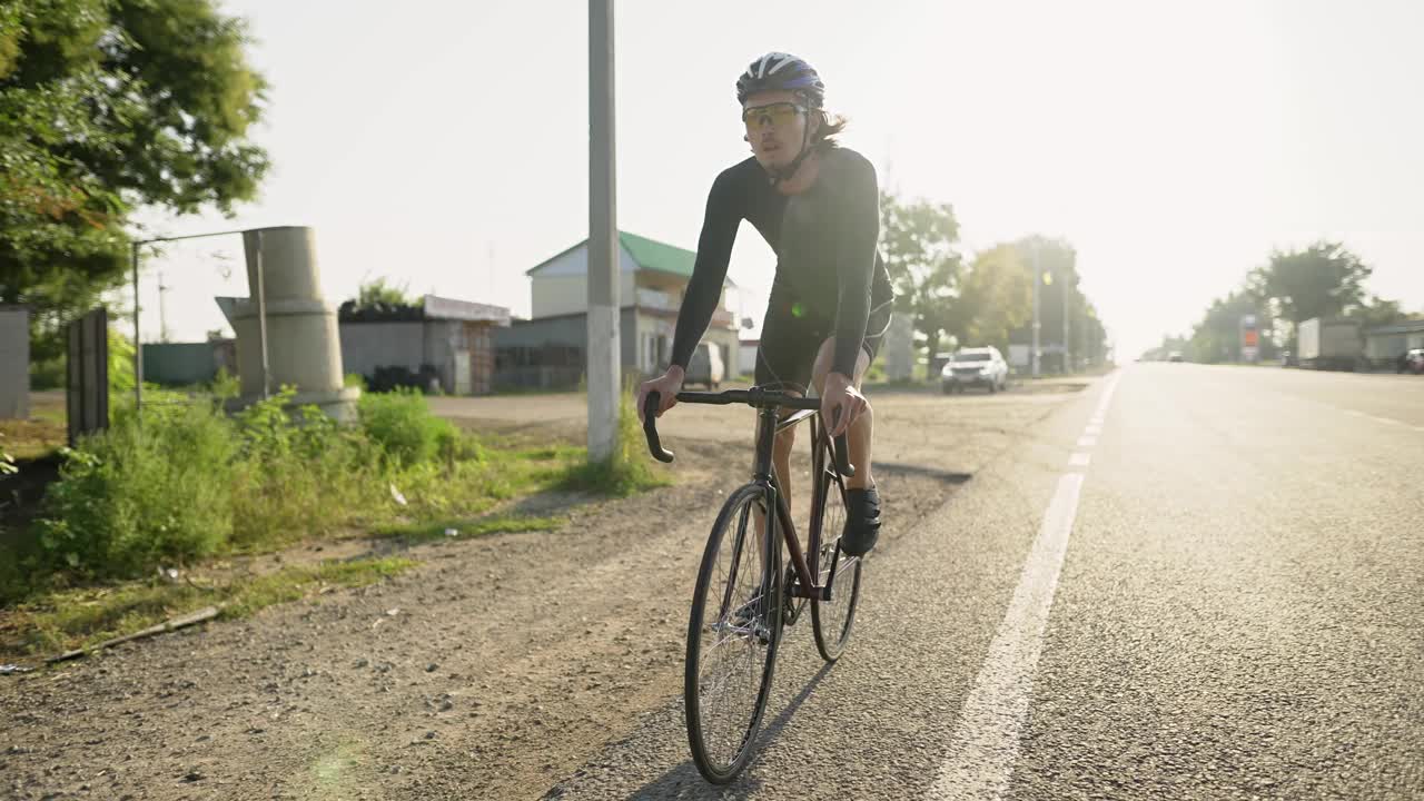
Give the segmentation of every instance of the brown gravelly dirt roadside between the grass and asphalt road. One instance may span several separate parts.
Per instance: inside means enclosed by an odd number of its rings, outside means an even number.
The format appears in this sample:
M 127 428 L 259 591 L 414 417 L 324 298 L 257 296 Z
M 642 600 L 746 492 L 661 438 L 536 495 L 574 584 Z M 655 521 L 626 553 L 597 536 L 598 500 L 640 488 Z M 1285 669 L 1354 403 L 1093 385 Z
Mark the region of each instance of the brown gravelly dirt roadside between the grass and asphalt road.
M 873 396 L 884 536 L 1077 386 Z M 437 410 L 567 436 L 582 398 L 550 398 Z M 419 546 L 422 567 L 384 584 L 0 678 L 0 797 L 540 797 L 679 691 L 702 540 L 749 459 L 726 432 L 748 415 L 675 409 L 678 485 L 577 507 L 562 530 Z

